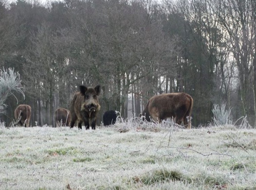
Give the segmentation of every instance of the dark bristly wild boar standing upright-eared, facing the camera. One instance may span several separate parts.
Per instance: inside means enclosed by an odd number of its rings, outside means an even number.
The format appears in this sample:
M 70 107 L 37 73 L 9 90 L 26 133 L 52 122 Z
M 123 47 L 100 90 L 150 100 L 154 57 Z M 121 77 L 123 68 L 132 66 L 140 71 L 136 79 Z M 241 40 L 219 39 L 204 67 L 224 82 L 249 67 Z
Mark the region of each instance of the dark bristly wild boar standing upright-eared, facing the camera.
M 100 104 L 97 96 L 100 94 L 100 86 L 94 88 L 80 86 L 80 92 L 77 92 L 71 101 L 71 122 L 70 127 L 73 128 L 74 123 L 78 120 L 78 128 L 82 129 L 84 122 L 86 129 L 95 129 L 97 113 L 100 110 Z

